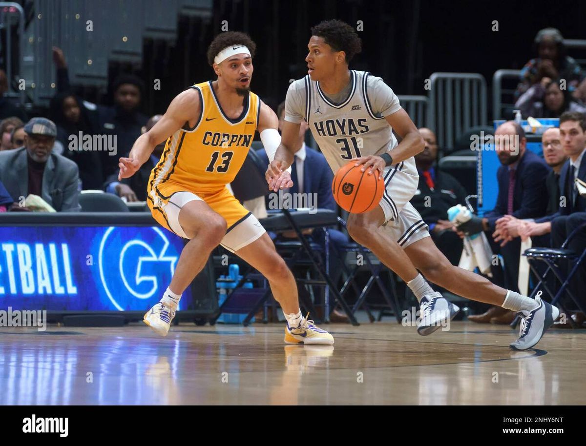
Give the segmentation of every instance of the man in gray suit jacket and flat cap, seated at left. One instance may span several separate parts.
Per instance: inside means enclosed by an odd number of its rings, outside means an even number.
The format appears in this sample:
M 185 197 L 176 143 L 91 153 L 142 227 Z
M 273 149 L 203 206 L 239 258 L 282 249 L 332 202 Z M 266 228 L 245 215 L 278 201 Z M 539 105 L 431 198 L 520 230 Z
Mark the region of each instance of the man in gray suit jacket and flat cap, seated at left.
M 52 153 L 57 128 L 46 118 L 25 125 L 25 146 L 0 152 L 0 181 L 16 200 L 39 195 L 57 212 L 77 212 L 79 169 L 64 156 Z

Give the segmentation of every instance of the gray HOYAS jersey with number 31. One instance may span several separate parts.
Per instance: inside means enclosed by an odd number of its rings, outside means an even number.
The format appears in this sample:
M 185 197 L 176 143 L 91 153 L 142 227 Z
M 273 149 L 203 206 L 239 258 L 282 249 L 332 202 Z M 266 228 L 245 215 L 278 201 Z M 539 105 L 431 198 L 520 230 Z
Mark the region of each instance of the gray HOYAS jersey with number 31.
M 401 109 L 393 90 L 366 71 L 350 70 L 350 92 L 340 99 L 339 104 L 332 102 L 319 82 L 305 76 L 289 86 L 285 100 L 285 120 L 307 121 L 334 172 L 354 157 L 392 150 L 397 139 L 384 118 Z M 401 170 L 418 177 L 413 157 Z

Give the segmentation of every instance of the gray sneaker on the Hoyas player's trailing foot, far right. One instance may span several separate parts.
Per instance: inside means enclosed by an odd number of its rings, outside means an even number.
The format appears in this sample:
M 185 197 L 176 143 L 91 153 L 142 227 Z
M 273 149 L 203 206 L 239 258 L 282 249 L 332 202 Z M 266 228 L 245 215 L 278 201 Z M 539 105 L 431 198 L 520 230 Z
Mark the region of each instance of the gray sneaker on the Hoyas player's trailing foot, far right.
M 521 320 L 521 330 L 519 330 L 519 339 L 510 344 L 511 350 L 526 350 L 532 348 L 544 332 L 554 323 L 560 315 L 560 310 L 550 303 L 541 300 L 541 291 L 535 296 L 535 301 L 539 304 L 533 311 L 521 311 L 524 317 Z

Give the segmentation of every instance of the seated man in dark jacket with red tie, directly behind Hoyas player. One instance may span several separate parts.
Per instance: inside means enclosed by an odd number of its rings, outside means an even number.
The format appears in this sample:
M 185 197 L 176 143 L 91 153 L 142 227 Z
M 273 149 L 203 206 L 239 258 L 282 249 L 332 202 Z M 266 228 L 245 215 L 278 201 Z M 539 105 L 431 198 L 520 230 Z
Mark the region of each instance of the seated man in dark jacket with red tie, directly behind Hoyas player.
M 462 239 L 452 231 L 448 209 L 456 204 L 464 204 L 467 194 L 458 180 L 434 166 L 438 151 L 435 133 L 427 128 L 419 129 L 419 133 L 423 136 L 425 147 L 423 152 L 415 155 L 419 184 L 411 204 L 430 228 L 435 245 L 452 265 L 457 266 L 462 255 Z

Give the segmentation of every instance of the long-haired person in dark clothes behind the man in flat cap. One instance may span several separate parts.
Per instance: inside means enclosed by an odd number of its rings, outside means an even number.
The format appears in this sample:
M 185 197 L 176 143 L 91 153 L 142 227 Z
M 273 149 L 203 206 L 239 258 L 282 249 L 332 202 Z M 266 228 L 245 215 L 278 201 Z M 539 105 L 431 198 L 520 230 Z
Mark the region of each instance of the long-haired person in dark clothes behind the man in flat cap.
M 101 189 L 104 183 L 104 174 L 101 164 L 102 153 L 93 147 L 91 150 L 81 150 L 83 142 L 79 134 L 93 136 L 98 133 L 97 114 L 83 104 L 74 93 L 65 91 L 57 93 L 50 103 L 50 116 L 57 125 L 57 140 L 63 145 L 63 156 L 77 164 L 79 177 L 83 189 Z M 76 138 L 80 150 L 71 150 L 72 138 Z M 82 136 L 82 138 L 83 138 Z

